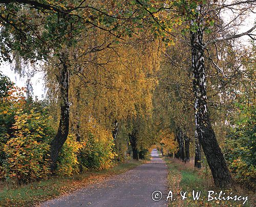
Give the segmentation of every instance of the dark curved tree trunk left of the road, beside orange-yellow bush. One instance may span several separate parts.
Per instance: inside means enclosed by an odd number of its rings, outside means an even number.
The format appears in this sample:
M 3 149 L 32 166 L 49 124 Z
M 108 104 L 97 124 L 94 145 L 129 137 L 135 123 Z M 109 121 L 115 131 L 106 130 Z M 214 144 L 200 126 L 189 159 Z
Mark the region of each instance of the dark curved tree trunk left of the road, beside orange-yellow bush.
M 67 58 L 62 56 L 61 69 L 59 77 L 60 85 L 60 120 L 58 131 L 54 139 L 52 140 L 50 147 L 50 170 L 54 172 L 57 168 L 57 159 L 61 147 L 67 140 L 69 134 L 69 70 L 67 65 Z

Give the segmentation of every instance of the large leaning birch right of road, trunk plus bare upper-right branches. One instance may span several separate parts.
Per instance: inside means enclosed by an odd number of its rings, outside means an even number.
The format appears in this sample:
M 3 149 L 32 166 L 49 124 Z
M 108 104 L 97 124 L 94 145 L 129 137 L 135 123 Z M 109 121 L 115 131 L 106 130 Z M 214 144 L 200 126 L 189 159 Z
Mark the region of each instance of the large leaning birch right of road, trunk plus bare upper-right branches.
M 251 1 L 253 4 L 253 2 Z M 208 5 L 209 4 L 209 5 Z M 214 40 L 205 42 L 204 34 L 212 24 L 214 24 L 214 18 L 207 19 L 207 14 L 212 15 L 212 10 L 221 12 L 223 8 L 229 8 L 234 5 L 248 4 L 247 2 L 237 2 L 230 5 L 213 6 L 210 4 L 198 3 L 194 9 L 195 14 L 190 20 L 190 44 L 191 44 L 191 62 L 193 67 L 193 86 L 194 86 L 194 98 L 195 98 L 195 121 L 198 138 L 204 154 L 207 158 L 208 165 L 211 169 L 212 176 L 216 186 L 223 187 L 229 185 L 231 182 L 231 175 L 227 168 L 223 153 L 219 147 L 214 130 L 211 127 L 208 106 L 207 106 L 207 91 L 206 91 L 206 70 L 205 70 L 205 50 L 208 43 L 215 43 L 218 41 L 227 41 L 234 38 L 241 37 L 243 35 L 252 36 L 250 33 L 256 28 L 253 26 L 247 32 L 235 35 L 226 34 L 225 37 L 217 37 Z M 250 6 L 244 9 L 238 8 L 241 11 L 239 15 L 244 14 L 247 10 L 250 10 Z M 216 17 L 212 15 L 213 17 Z M 216 17 L 217 18 L 217 17 Z M 220 16 L 219 16 L 220 18 Z M 208 21 L 208 24 L 207 24 Z M 214 27 L 215 25 L 212 25 Z M 229 24 L 232 26 L 232 23 Z M 212 28 L 213 29 L 213 28 Z M 225 31 L 222 31 L 225 34 Z M 226 31 L 227 32 L 227 31 Z M 218 67 L 216 65 L 216 67 Z M 218 68 L 219 72 L 223 72 Z M 225 76 L 223 74 L 223 76 Z

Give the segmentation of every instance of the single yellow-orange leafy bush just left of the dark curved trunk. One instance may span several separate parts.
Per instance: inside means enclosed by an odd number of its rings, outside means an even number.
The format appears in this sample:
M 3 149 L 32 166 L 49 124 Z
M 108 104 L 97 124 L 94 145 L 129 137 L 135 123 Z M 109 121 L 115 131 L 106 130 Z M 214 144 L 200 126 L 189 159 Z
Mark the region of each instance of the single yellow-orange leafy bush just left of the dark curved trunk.
M 14 132 L 3 147 L 2 174 L 6 179 L 23 183 L 48 174 L 49 134 L 41 127 L 48 119 L 41 119 L 40 115 L 33 109 L 30 114 L 22 110 L 17 112 L 12 127 Z

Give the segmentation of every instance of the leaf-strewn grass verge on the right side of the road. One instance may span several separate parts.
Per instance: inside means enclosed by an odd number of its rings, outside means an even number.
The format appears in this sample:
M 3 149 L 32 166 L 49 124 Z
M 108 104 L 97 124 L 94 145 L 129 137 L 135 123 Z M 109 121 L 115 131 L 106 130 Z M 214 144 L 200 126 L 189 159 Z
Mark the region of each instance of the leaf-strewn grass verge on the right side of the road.
M 217 189 L 207 169 L 195 169 L 194 163 L 183 163 L 174 158 L 164 158 L 168 167 L 168 190 L 172 190 L 175 201 L 169 201 L 168 206 L 255 206 L 255 192 L 249 192 L 247 189 L 242 189 L 239 186 L 233 186 L 230 189 Z M 175 180 L 176 178 L 176 180 Z M 173 183 L 174 182 L 174 183 Z M 178 183 L 177 183 L 178 182 Z M 177 187 L 178 186 L 178 187 Z M 198 200 L 193 199 L 193 190 L 201 191 L 201 196 Z M 221 197 L 227 197 L 232 192 L 231 196 L 248 196 L 247 202 L 243 205 L 243 200 L 211 200 L 208 199 L 208 191 L 214 191 L 212 197 L 219 196 L 219 192 L 223 190 Z M 182 200 L 180 191 L 187 192 L 186 199 Z

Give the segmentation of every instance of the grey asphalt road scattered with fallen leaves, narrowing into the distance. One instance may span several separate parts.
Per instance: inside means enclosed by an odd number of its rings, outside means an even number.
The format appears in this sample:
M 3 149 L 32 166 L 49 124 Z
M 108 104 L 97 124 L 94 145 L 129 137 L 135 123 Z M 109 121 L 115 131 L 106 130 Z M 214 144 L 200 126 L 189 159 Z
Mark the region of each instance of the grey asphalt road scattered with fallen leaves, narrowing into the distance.
M 49 200 L 40 206 L 167 206 L 165 202 L 167 168 L 163 160 L 158 157 L 156 149 L 152 150 L 151 156 L 150 163 L 72 194 Z M 156 190 L 163 192 L 160 201 L 152 199 L 152 193 Z

